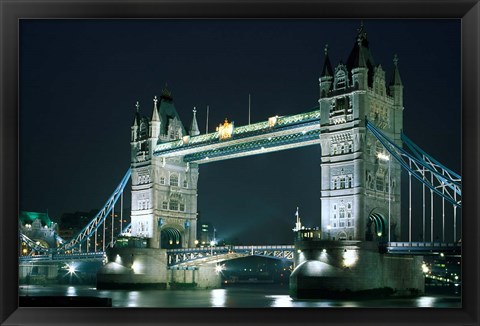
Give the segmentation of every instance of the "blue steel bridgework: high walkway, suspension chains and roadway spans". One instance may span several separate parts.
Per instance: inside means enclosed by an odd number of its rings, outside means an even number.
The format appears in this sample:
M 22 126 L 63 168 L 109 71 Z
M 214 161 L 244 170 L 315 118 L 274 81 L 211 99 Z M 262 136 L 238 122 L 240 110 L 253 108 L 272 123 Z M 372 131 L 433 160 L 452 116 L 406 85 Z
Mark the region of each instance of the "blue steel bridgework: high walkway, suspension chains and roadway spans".
M 258 150 L 274 151 L 280 148 L 306 146 L 319 143 L 319 110 L 297 114 L 288 117 L 274 117 L 274 122 L 260 122 L 235 129 L 234 137 L 231 140 L 219 139 L 218 132 L 191 137 L 186 140 L 172 141 L 160 144 L 155 149 L 155 155 L 178 156 L 183 155 L 186 162 L 198 162 L 207 158 L 223 158 L 230 155 L 251 155 L 251 152 Z M 461 177 L 457 173 L 446 168 L 437 160 L 429 156 L 426 152 L 415 145 L 410 139 L 402 134 L 403 144 L 407 146 L 411 153 L 396 145 L 380 132 L 371 122 L 366 122 L 367 129 L 382 143 L 392 157 L 408 172 L 409 181 L 413 175 L 424 186 L 439 196 L 442 201 L 446 200 L 454 207 L 454 229 L 456 228 L 456 209 L 461 208 Z M 284 147 L 286 146 L 287 147 Z M 215 148 L 211 148 L 215 147 Z M 261 153 L 261 152 L 259 152 Z M 206 162 L 203 162 L 206 163 Z M 87 226 L 80 231 L 72 240 L 66 242 L 59 239 L 57 248 L 42 247 L 36 241 L 29 239 L 24 234 L 19 234 L 19 240 L 25 243 L 31 253 L 36 256 L 21 257 L 21 262 L 32 260 L 72 260 L 72 259 L 103 259 L 105 248 L 102 251 L 91 252 L 86 245 L 86 252 L 82 253 L 82 244 L 92 236 L 96 236 L 97 230 L 103 226 L 108 214 L 114 208 L 115 203 L 121 197 L 123 190 L 131 176 L 131 170 L 128 169 L 120 184 L 109 197 L 104 207 L 99 211 Z M 443 225 L 445 226 L 445 225 Z M 128 232 L 129 225 L 124 228 L 122 233 Z M 395 253 L 418 253 L 428 254 L 434 252 L 446 252 L 452 254 L 460 253 L 460 243 L 454 240 L 454 243 L 445 244 L 442 242 L 412 242 L 411 241 L 411 216 L 409 219 L 409 241 L 408 242 L 387 242 L 380 244 L 380 249 L 386 252 Z M 433 230 L 433 223 L 432 223 Z M 455 231 L 456 232 L 456 229 Z M 455 236 L 454 236 L 455 237 Z M 105 243 L 104 233 L 104 241 Z M 110 239 L 110 245 L 113 245 L 115 239 Z M 264 255 L 276 258 L 291 259 L 293 255 L 293 246 L 234 246 L 234 247 L 207 247 L 207 248 L 187 248 L 169 250 L 169 264 L 175 265 L 205 259 L 216 255 L 232 255 L 227 259 L 237 258 L 238 255 Z M 222 258 L 223 259 L 223 258 Z

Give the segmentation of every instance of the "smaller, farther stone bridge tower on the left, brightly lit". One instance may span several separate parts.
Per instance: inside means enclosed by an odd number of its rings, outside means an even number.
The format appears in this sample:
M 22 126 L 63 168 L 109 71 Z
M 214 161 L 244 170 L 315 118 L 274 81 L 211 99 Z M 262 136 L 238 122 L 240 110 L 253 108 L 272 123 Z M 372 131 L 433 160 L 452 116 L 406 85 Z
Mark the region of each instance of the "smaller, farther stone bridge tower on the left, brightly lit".
M 155 96 L 151 118 L 142 116 L 137 102 L 131 127 L 132 236 L 149 238 L 149 248 L 193 247 L 197 230 L 198 164 L 183 157 L 153 155 L 158 143 L 183 139 L 185 127 L 171 92 Z M 193 112 L 190 135 L 197 135 Z

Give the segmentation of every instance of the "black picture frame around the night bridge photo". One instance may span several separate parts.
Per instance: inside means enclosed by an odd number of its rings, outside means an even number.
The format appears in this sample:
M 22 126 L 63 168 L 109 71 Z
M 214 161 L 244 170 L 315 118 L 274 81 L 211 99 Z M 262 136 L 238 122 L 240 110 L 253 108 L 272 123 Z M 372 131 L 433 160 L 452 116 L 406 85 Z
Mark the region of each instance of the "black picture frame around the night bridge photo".
M 480 4 L 478 0 L 0 0 L 0 320 L 2 325 L 478 325 Z M 462 308 L 147 309 L 18 307 L 18 20 L 21 18 L 461 18 Z

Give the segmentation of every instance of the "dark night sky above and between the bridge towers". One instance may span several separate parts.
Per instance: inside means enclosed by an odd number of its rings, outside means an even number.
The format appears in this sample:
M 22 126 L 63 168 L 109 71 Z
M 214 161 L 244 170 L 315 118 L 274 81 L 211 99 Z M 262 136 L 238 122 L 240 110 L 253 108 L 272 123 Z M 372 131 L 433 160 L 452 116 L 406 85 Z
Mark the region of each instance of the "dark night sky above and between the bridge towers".
M 460 20 L 365 20 L 370 49 L 404 83 L 404 132 L 460 172 Z M 168 83 L 189 126 L 240 126 L 318 104 L 324 53 L 346 61 L 359 20 L 22 20 L 20 210 L 103 206 L 130 164 L 134 105 Z M 294 213 L 320 221 L 320 149 L 200 166 L 199 211 L 218 236 L 291 243 Z M 129 186 L 128 186 L 129 187 Z

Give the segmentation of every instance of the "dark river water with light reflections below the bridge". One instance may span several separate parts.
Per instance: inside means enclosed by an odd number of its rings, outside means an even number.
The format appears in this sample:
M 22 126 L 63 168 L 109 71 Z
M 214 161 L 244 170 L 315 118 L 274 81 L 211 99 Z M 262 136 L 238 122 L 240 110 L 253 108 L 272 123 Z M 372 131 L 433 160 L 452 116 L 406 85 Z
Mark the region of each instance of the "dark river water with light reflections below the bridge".
M 431 291 L 439 292 L 439 291 Z M 428 291 L 427 291 L 428 293 Z M 151 308 L 276 308 L 276 307 L 376 307 L 460 308 L 461 297 L 441 291 L 417 298 L 379 300 L 293 300 L 288 287 L 274 284 L 244 285 L 211 290 L 98 290 L 88 285 L 22 285 L 19 295 L 109 297 L 113 307 Z

